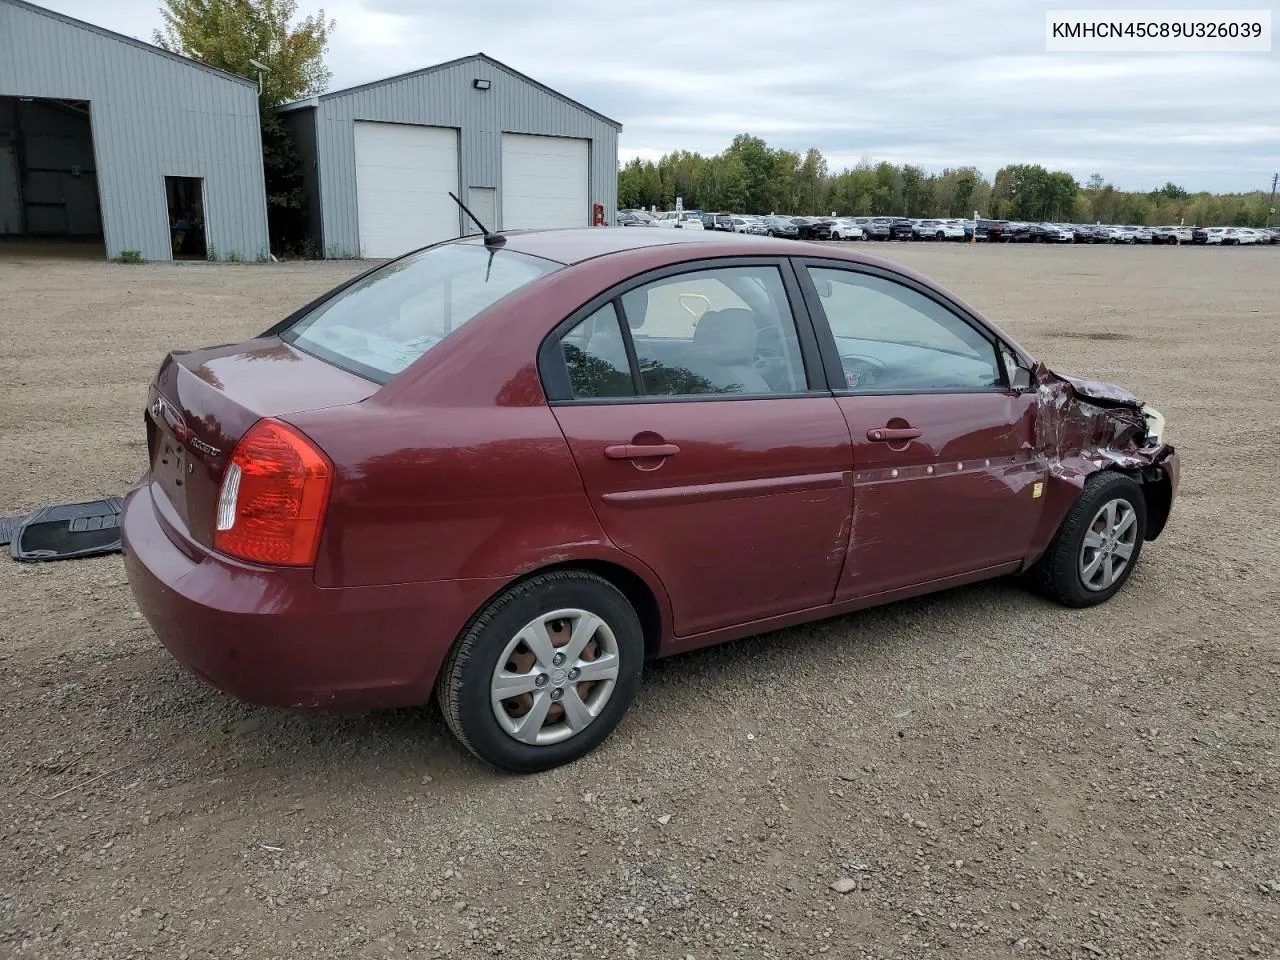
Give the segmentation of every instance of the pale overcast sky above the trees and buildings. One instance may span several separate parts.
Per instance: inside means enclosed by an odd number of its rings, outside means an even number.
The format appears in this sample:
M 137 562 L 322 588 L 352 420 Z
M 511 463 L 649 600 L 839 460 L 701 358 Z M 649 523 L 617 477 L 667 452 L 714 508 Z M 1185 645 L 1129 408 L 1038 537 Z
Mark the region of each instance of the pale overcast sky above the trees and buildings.
M 44 0 L 141 40 L 154 0 Z M 1274 8 L 1275 0 L 1110 6 Z M 302 13 L 320 0 L 300 0 Z M 622 157 L 750 132 L 928 169 L 1039 163 L 1128 189 L 1270 187 L 1280 52 L 1046 54 L 1075 0 L 326 0 L 333 88 L 483 51 L 623 124 Z M 1280 14 L 1274 13 L 1280 20 Z

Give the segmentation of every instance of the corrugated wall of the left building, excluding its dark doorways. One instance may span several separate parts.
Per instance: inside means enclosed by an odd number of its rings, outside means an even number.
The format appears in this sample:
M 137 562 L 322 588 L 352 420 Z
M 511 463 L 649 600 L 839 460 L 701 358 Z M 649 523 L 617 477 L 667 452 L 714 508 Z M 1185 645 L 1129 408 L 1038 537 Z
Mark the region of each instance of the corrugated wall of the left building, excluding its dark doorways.
M 256 84 L 0 0 L 0 93 L 90 101 L 108 256 L 170 259 L 166 175 L 204 178 L 219 256 L 269 253 Z

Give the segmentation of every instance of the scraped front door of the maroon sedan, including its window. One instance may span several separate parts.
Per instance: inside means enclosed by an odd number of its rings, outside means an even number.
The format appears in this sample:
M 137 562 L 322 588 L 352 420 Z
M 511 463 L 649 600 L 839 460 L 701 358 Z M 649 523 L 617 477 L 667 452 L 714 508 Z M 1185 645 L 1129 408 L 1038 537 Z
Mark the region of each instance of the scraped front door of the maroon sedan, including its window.
M 836 600 L 1021 561 L 1046 476 L 1036 397 L 1005 385 L 993 335 L 884 274 L 810 265 L 808 278 L 854 449 Z

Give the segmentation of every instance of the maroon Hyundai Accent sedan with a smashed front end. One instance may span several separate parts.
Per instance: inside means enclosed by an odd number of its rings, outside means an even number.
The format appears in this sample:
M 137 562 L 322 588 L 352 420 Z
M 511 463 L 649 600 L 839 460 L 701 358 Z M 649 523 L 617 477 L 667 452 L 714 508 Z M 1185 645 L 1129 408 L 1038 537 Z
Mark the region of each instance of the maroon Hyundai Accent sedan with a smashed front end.
M 644 660 L 1007 573 L 1073 607 L 1165 526 L 1128 392 L 829 246 L 454 241 L 170 353 L 124 506 L 169 650 L 244 700 L 417 704 L 509 771 L 581 756 Z

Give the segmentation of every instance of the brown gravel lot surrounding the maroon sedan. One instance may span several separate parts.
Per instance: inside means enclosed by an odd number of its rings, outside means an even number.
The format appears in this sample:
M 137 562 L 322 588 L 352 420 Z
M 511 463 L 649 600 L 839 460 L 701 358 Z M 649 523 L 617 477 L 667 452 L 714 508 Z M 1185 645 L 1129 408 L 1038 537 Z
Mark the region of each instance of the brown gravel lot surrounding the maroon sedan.
M 0 561 L 0 956 L 1280 955 L 1280 251 L 874 251 L 1166 413 L 1181 499 L 1112 603 L 993 582 L 664 660 L 509 778 L 434 707 L 205 687 L 118 557 Z M 0 515 L 120 492 L 165 349 L 356 269 L 0 261 Z

